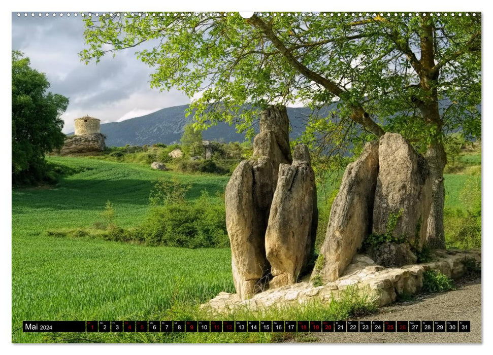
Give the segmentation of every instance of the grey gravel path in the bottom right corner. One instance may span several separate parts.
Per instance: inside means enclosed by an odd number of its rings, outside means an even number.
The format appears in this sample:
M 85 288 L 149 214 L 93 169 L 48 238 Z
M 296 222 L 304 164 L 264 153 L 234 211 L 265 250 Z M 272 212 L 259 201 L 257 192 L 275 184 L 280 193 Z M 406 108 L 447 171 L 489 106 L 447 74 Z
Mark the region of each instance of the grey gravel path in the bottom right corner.
M 419 295 L 360 321 L 471 321 L 470 333 L 310 333 L 316 343 L 481 343 L 481 279 L 456 282 L 457 290 Z M 307 339 L 308 340 L 308 339 Z

